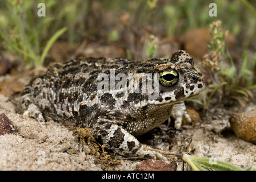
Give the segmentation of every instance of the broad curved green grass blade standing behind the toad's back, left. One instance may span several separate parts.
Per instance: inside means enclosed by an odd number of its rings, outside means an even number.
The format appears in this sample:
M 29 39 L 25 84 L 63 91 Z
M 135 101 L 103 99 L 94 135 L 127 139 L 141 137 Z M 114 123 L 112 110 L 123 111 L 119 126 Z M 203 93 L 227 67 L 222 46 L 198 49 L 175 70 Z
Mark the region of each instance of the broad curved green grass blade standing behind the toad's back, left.
M 54 42 L 61 36 L 65 31 L 67 31 L 67 27 L 61 28 L 61 30 L 58 30 L 53 36 L 51 36 L 50 40 L 47 42 L 45 48 L 43 49 L 41 58 L 39 62 L 37 62 L 37 67 L 41 67 L 43 65 L 43 61 L 45 60 L 45 57 L 47 53 L 49 52 L 51 46 L 53 46 Z

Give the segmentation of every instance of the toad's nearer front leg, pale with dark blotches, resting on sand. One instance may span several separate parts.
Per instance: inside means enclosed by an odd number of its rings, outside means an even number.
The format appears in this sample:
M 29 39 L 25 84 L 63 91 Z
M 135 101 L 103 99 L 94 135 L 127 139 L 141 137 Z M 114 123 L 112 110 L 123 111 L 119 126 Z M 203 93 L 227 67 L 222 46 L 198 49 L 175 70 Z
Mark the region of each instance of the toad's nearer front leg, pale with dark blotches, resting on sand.
M 100 139 L 107 149 L 116 154 L 138 159 L 167 160 L 165 156 L 157 151 L 147 150 L 150 147 L 140 143 L 133 135 L 122 127 L 110 122 L 97 121 L 91 127 L 95 138 Z

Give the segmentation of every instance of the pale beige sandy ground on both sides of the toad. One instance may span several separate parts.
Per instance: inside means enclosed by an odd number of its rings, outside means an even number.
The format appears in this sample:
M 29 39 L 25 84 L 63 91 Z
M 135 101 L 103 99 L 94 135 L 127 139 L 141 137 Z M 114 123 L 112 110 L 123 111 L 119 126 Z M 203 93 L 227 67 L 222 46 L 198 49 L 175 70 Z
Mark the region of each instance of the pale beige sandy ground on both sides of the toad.
M 35 119 L 18 114 L 15 105 L 0 94 L 0 114 L 5 113 L 17 129 L 14 134 L 0 136 L 0 170 L 103 169 L 93 155 L 82 150 L 73 132 L 63 123 L 47 122 L 46 127 L 42 127 Z M 256 145 L 237 138 L 229 130 L 228 119 L 223 117 L 222 121 L 211 119 L 194 126 L 183 126 L 180 135 L 193 139 L 193 156 L 223 160 L 242 168 L 256 168 Z M 180 150 L 179 144 L 184 145 L 185 140 L 176 142 L 171 151 Z M 134 170 L 140 161 L 121 160 L 117 167 Z M 182 170 L 181 160 L 178 160 L 178 170 Z

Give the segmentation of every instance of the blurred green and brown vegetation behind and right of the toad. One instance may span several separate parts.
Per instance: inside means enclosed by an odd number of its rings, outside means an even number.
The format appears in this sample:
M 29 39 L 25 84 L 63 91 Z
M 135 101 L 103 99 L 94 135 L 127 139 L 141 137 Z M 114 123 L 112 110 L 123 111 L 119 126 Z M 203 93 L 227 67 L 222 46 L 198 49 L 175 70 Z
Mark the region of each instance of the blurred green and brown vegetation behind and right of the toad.
M 185 49 L 207 85 L 195 102 L 208 109 L 219 92 L 243 104 L 256 92 L 256 1 L 213 2 L 217 17 L 205 0 L 0 1 L 0 57 L 33 68 L 79 55 L 143 60 Z

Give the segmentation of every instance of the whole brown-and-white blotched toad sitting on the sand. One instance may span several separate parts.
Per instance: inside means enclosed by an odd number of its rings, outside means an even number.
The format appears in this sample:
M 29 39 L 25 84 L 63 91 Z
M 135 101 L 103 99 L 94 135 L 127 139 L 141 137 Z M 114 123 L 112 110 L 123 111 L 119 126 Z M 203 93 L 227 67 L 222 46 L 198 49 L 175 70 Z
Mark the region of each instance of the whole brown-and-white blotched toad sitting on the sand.
M 169 117 L 179 129 L 183 117 L 190 119 L 183 101 L 202 89 L 202 75 L 186 51 L 146 61 L 80 57 L 32 78 L 22 104 L 24 115 L 40 122 L 50 117 L 90 128 L 119 155 L 166 159 L 135 137 Z

